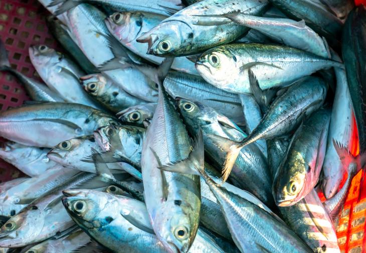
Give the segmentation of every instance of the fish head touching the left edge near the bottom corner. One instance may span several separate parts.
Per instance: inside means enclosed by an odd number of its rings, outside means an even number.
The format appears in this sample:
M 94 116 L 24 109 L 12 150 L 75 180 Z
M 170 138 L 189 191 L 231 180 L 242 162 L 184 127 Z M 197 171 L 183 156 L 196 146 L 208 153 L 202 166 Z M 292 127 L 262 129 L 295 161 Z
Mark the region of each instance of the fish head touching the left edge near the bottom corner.
M 28 206 L 12 216 L 0 228 L 0 247 L 17 247 L 29 244 L 42 231 L 44 215 L 37 206 Z

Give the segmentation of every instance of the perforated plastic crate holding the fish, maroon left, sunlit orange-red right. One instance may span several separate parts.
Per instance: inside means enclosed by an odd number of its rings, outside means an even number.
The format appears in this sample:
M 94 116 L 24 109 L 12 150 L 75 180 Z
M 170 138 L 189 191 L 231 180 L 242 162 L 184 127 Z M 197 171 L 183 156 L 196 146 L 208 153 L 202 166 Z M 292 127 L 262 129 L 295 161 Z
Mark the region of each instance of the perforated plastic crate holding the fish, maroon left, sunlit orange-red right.
M 365 4 L 366 0 L 355 0 Z M 5 41 L 9 51 L 9 60 L 13 68 L 23 74 L 39 79 L 28 55 L 28 48 L 34 44 L 46 44 L 56 47 L 57 44 L 48 32 L 44 17 L 47 11 L 37 0 L 0 0 L 0 37 Z M 0 72 L 0 110 L 17 107 L 29 100 L 22 85 L 11 75 Z M 355 122 L 353 124 L 355 128 Z M 351 136 L 351 152 L 358 153 L 357 131 Z M 366 252 L 366 180 L 362 192 L 360 190 L 361 174 L 352 180 L 351 187 L 341 211 L 337 237 L 341 252 Z M 14 166 L 0 160 L 0 182 L 21 176 Z M 358 196 L 360 194 L 360 201 Z

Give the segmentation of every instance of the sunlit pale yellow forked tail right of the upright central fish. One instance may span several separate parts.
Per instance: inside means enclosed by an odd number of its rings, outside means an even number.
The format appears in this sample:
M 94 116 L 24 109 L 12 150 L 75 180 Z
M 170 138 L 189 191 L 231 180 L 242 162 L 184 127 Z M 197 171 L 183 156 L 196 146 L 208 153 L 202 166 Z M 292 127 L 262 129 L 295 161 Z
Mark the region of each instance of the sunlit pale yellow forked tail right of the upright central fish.
M 247 143 L 248 138 L 245 138 L 241 142 L 233 141 L 218 135 L 210 135 L 210 138 L 216 145 L 218 145 L 224 152 L 226 152 L 226 158 L 222 171 L 222 179 L 225 182 L 228 179 L 231 170 L 233 169 L 234 163 L 238 158 L 240 150 L 244 146 L 249 144 Z

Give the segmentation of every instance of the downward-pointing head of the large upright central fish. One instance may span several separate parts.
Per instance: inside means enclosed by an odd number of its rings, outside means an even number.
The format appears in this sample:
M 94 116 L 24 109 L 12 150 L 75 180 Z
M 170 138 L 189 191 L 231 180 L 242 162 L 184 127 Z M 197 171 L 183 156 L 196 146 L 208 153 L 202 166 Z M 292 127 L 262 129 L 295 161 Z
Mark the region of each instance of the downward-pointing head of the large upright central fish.
M 155 216 L 154 231 L 169 252 L 187 253 L 196 236 L 198 224 L 194 222 L 194 215 L 184 212 L 182 201 L 173 202 L 166 202 Z

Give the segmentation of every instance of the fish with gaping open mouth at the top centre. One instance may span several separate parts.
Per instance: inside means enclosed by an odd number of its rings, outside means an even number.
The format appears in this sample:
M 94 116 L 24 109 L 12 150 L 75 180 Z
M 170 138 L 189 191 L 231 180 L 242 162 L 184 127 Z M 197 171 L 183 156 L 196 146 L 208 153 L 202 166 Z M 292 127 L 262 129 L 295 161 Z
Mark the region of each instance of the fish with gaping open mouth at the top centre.
M 238 10 L 245 14 L 261 15 L 267 6 L 268 2 L 265 0 L 200 1 L 163 20 L 136 41 L 147 43 L 147 54 L 155 56 L 179 57 L 199 54 L 209 48 L 233 42 L 249 30 L 229 19 L 213 18 L 212 15 Z

